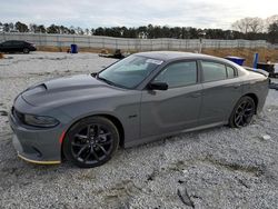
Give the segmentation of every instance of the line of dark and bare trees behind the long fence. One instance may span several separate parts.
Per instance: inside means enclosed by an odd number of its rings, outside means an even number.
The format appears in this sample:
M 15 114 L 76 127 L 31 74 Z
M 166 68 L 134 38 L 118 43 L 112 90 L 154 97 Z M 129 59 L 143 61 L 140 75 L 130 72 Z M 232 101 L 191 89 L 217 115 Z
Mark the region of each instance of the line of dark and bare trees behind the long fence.
M 278 43 L 278 14 L 265 20 L 260 18 L 244 18 L 231 24 L 231 30 L 222 29 L 198 29 L 193 27 L 168 27 L 168 26 L 141 26 L 141 27 L 98 27 L 82 29 L 80 27 L 66 27 L 51 24 L 26 24 L 23 22 L 2 23 L 3 32 L 32 32 L 32 33 L 58 33 L 58 34 L 81 34 L 81 36 L 107 36 L 118 38 L 175 38 L 175 39 L 247 39 L 268 40 Z

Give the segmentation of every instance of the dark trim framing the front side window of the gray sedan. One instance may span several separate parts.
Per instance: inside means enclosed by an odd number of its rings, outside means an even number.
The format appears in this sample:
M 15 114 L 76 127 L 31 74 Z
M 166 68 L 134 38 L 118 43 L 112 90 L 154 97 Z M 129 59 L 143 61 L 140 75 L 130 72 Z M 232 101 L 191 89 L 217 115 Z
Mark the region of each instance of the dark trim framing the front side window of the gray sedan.
M 197 59 L 185 59 L 185 60 L 176 60 L 176 61 L 171 61 L 169 63 L 167 63 L 166 66 L 163 66 L 157 73 L 156 76 L 153 76 L 153 78 L 148 82 L 151 83 L 159 74 L 160 72 L 162 72 L 165 69 L 167 69 L 169 66 L 175 64 L 175 63 L 180 63 L 180 62 L 196 62 L 196 83 L 192 84 L 183 84 L 183 86 L 179 86 L 179 87 L 169 87 L 168 89 L 177 89 L 177 88 L 183 88 L 183 87 L 190 87 L 190 86 L 195 86 L 195 84 L 199 84 L 201 79 L 200 79 L 200 69 L 199 69 L 199 63 Z M 148 87 L 148 84 L 146 86 L 146 88 Z

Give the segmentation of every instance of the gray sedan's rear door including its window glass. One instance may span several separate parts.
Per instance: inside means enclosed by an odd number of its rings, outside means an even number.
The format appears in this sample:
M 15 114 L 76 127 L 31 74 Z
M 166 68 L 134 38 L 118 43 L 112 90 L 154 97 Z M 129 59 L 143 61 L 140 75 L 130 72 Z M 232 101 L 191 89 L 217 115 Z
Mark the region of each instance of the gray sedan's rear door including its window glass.
M 201 60 L 202 107 L 199 125 L 226 122 L 242 94 L 237 69 L 226 63 Z

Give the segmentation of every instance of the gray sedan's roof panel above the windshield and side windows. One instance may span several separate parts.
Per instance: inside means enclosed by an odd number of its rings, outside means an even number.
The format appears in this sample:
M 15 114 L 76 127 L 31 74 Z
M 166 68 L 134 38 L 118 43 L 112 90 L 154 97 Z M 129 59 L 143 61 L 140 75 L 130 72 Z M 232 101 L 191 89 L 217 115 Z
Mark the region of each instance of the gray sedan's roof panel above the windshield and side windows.
M 179 58 L 187 58 L 187 59 L 220 59 L 212 56 L 207 56 L 202 53 L 191 53 L 191 52 L 181 52 L 181 51 L 148 51 L 148 52 L 140 52 L 137 53 L 138 56 L 143 56 L 152 59 L 159 59 L 163 61 L 169 61 Z

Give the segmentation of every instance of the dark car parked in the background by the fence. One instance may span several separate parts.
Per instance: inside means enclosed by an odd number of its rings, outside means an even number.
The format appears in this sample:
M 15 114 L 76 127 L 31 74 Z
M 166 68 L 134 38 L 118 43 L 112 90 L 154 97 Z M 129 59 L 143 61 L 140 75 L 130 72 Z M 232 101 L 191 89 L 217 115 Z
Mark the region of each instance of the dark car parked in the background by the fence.
M 27 41 L 9 40 L 0 43 L 0 52 L 23 52 L 29 53 L 36 51 L 37 48 L 33 43 Z

